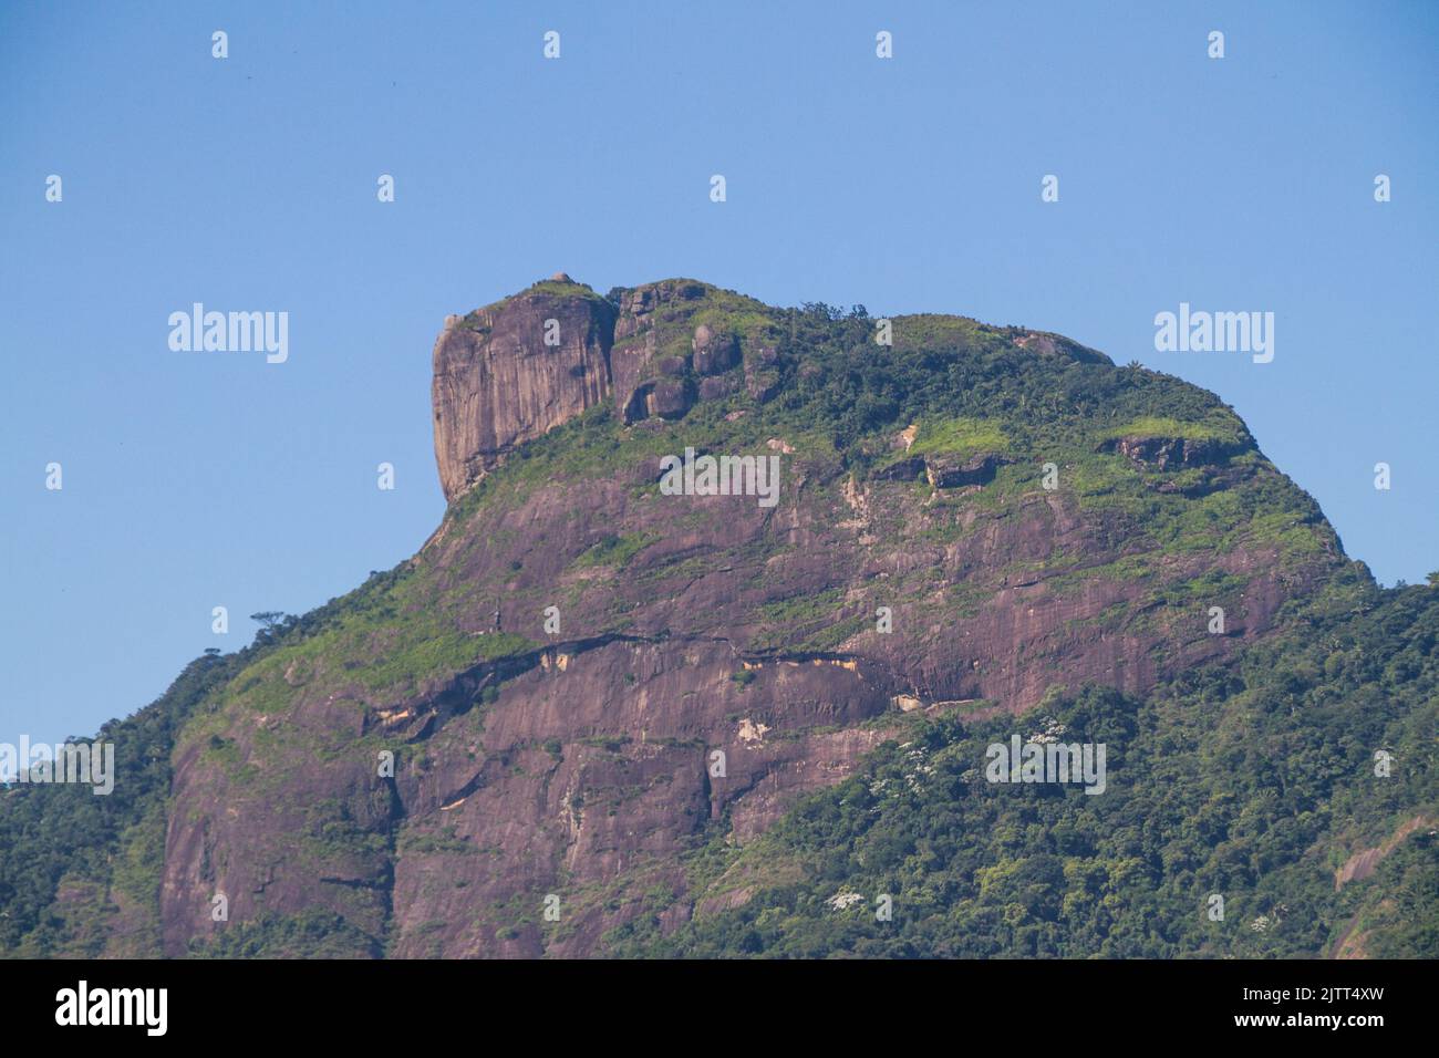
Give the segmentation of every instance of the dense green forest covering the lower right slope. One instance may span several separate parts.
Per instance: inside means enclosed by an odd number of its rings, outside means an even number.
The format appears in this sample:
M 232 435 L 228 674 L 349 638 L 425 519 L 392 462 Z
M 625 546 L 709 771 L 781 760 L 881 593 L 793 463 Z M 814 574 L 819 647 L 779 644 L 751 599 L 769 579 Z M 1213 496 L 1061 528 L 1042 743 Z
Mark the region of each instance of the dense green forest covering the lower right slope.
M 1089 687 L 1022 717 L 915 717 L 763 838 L 735 846 L 717 826 L 688 856 L 701 905 L 744 890 L 743 907 L 668 934 L 642 917 L 606 950 L 1305 957 L 1357 924 L 1368 954 L 1432 957 L 1436 643 L 1439 590 L 1354 576 L 1238 664 L 1143 698 Z M 1107 744 L 1105 793 L 986 782 L 990 743 L 1046 730 Z M 1392 754 L 1387 777 L 1377 751 Z M 1415 818 L 1371 877 L 1335 890 L 1345 861 Z M 876 918 L 882 895 L 889 921 Z

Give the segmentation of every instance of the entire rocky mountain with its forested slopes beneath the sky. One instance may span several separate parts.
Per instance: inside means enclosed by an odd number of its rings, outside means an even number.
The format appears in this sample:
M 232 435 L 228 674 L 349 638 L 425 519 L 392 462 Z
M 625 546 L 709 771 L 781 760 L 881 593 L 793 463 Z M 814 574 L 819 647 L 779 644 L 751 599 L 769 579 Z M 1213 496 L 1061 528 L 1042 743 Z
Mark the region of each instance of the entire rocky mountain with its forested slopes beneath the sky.
M 4 951 L 1439 954 L 1439 590 L 1213 394 L 563 273 L 433 364 L 443 523 L 6 790 Z

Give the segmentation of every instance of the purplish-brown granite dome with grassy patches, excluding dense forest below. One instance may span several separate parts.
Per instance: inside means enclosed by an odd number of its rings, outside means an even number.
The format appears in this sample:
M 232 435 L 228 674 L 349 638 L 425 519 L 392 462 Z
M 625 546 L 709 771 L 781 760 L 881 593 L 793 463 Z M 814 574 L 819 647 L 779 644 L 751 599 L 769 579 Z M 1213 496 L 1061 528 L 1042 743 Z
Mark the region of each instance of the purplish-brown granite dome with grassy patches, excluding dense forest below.
M 360 954 L 599 954 L 715 910 L 684 854 L 754 841 L 907 714 L 1143 694 L 1344 564 L 1209 394 L 889 322 L 566 276 L 446 321 L 446 521 L 186 727 L 164 950 L 216 941 L 224 894 L 230 923 L 338 915 Z M 662 495 L 686 446 L 777 456 L 777 505 Z

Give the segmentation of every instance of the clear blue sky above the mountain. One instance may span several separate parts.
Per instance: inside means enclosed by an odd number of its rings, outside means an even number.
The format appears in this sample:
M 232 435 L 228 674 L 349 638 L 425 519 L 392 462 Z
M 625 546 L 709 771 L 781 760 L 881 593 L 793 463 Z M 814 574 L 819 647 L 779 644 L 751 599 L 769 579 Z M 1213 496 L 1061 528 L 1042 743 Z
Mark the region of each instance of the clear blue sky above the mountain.
M 1432 3 L 7 1 L 0 741 L 92 733 L 246 615 L 413 554 L 445 315 L 557 269 L 1137 358 L 1232 403 L 1383 582 L 1422 580 L 1436 45 Z M 171 353 L 194 301 L 288 311 L 289 361 Z M 1181 301 L 1274 311 L 1274 363 L 1156 353 Z

